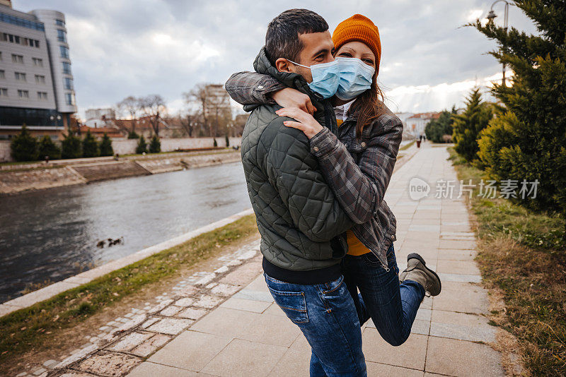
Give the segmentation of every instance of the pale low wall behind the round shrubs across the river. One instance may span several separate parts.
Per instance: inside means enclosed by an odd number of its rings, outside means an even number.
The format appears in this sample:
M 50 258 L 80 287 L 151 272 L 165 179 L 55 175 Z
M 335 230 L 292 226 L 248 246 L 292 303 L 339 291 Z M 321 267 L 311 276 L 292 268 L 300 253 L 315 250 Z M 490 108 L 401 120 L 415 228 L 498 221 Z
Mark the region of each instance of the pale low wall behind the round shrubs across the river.
M 112 148 L 120 155 L 136 152 L 137 139 L 112 139 Z M 149 143 L 149 140 L 146 140 Z M 229 138 L 230 146 L 241 145 L 242 138 Z M 56 142 L 58 143 L 58 142 Z M 216 138 L 219 147 L 226 147 L 226 138 Z M 213 138 L 162 138 L 161 152 L 172 152 L 178 149 L 209 148 L 214 146 Z M 0 162 L 11 162 L 10 141 L 0 140 Z

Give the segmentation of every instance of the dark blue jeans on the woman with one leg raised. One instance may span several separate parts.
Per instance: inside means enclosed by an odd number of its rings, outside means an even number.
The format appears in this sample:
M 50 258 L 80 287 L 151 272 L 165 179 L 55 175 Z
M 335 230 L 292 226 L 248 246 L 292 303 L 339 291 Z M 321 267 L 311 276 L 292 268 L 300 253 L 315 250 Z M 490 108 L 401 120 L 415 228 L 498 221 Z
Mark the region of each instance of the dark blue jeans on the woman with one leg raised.
M 389 272 L 374 253 L 347 255 L 342 260 L 342 273 L 354 299 L 359 322 L 364 324 L 371 318 L 381 337 L 390 345 L 398 346 L 411 333 L 424 298 L 424 288 L 412 280 L 399 282 L 393 244 L 387 251 L 387 263 Z

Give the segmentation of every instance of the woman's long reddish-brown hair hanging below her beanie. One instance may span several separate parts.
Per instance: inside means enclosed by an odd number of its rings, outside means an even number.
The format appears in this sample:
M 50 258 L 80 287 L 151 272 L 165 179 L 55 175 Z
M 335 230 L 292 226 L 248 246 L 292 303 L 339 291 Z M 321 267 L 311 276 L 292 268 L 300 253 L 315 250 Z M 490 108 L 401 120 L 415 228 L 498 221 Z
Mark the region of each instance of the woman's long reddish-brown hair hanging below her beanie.
M 371 80 L 371 88 L 356 97 L 352 107 L 348 110 L 348 114 L 357 112 L 356 138 L 362 138 L 364 126 L 371 124 L 372 121 L 379 118 L 385 112 L 385 104 L 383 104 L 383 91 L 377 85 L 377 74 L 374 74 Z

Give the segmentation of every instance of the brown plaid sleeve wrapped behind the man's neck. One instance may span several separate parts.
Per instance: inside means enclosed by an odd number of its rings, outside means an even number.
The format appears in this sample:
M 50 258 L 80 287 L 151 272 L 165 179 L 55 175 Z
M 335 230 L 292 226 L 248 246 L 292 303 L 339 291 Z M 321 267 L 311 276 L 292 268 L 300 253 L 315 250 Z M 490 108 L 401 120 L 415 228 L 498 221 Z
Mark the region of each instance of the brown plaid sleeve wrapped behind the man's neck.
M 287 87 L 272 76 L 244 71 L 230 76 L 224 88 L 239 104 L 266 104 L 275 103 L 270 93 Z

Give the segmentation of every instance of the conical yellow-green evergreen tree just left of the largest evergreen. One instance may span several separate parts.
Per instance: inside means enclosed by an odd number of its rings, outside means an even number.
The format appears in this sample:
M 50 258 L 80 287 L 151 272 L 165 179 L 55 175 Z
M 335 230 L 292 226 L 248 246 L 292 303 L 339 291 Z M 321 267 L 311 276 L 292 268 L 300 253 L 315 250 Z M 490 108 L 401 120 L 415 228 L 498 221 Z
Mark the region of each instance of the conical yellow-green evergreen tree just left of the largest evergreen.
M 473 89 L 466 101 L 466 110 L 454 115 L 452 124 L 454 149 L 459 155 L 468 161 L 478 159 L 478 137 L 492 117 L 491 105 L 482 101 L 479 88 Z

